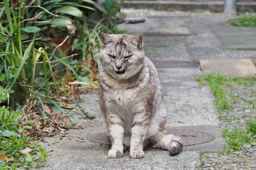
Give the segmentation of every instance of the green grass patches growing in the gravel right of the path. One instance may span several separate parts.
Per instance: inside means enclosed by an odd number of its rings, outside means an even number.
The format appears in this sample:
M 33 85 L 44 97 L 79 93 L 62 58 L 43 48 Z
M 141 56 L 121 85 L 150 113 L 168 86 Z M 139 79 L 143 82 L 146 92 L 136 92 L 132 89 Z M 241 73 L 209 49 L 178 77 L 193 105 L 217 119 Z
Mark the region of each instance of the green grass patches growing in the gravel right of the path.
M 251 86 L 255 83 L 255 79 L 253 77 L 246 78 L 235 78 L 235 77 L 227 77 L 223 76 L 219 73 L 205 74 L 204 77 L 199 77 L 195 79 L 200 83 L 200 85 L 204 85 L 205 81 L 207 81 L 213 95 L 215 96 L 215 103 L 218 107 L 218 112 L 221 114 L 224 110 L 233 110 L 235 104 L 237 102 L 237 98 L 240 97 L 239 94 L 227 94 L 224 91 L 224 88 L 232 88 L 234 85 L 245 85 Z M 247 104 L 250 105 L 251 108 L 254 108 L 254 101 L 245 100 Z M 236 116 L 229 115 L 219 115 L 219 120 L 236 120 Z M 222 136 L 227 140 L 227 146 L 222 151 L 222 154 L 230 153 L 230 150 L 239 150 L 244 149 L 244 144 L 250 144 L 252 142 L 256 142 L 256 139 L 253 136 L 256 135 L 256 120 L 251 119 L 246 122 L 246 128 L 236 128 L 235 130 L 222 129 Z

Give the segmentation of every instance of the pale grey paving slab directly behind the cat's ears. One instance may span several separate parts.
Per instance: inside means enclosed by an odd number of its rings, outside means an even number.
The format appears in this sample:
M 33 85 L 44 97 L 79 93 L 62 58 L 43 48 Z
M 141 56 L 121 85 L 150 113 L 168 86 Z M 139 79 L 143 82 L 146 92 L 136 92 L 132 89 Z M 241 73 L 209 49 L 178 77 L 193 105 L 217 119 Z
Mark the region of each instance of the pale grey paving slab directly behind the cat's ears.
M 136 17 L 137 18 L 137 17 Z M 132 17 L 129 17 L 132 20 Z M 118 27 L 119 30 L 127 30 L 128 33 L 163 34 L 163 35 L 189 35 L 191 34 L 186 23 L 177 17 L 151 17 L 146 18 L 144 23 L 125 24 Z

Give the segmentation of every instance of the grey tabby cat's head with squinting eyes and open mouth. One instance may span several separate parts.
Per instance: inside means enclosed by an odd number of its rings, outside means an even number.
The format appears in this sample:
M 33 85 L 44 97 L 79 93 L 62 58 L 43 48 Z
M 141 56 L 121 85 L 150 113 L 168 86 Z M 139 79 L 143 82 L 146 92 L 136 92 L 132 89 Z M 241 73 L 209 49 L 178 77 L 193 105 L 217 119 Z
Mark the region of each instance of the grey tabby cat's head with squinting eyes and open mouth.
M 101 67 L 116 79 L 128 79 L 143 67 L 142 35 L 101 33 Z

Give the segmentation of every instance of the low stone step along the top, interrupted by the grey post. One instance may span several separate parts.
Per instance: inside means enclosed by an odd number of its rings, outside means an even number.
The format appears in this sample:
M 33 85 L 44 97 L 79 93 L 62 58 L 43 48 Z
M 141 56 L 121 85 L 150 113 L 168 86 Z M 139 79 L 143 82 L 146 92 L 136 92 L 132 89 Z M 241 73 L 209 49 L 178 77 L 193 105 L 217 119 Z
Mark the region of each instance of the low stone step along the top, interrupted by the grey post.
M 255 12 L 256 1 L 252 2 L 237 2 L 238 12 Z M 223 12 L 224 1 L 204 1 L 204 2 L 191 2 L 191 1 L 170 1 L 170 0 L 125 0 L 121 4 L 122 8 L 154 8 L 155 10 L 162 11 L 195 11 L 195 10 L 208 10 L 212 12 Z

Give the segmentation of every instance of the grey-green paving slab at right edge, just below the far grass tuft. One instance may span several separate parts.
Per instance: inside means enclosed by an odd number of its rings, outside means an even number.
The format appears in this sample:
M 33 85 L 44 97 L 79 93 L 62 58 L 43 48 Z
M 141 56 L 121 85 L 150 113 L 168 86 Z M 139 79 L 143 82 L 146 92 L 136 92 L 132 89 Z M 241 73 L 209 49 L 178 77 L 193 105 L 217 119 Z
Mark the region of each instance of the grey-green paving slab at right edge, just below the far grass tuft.
M 256 50 L 256 28 L 226 24 L 212 27 L 212 30 L 221 41 L 222 48 Z

